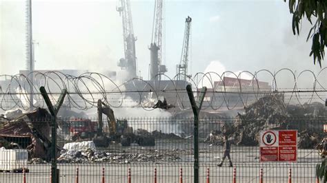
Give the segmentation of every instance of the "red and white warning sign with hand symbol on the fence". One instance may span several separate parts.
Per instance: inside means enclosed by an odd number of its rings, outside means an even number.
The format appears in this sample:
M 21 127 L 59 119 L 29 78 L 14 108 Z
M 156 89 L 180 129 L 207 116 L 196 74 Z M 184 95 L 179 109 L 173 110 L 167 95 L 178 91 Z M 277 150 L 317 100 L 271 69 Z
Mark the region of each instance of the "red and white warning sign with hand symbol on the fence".
M 260 132 L 260 162 L 296 161 L 296 130 L 268 130 Z

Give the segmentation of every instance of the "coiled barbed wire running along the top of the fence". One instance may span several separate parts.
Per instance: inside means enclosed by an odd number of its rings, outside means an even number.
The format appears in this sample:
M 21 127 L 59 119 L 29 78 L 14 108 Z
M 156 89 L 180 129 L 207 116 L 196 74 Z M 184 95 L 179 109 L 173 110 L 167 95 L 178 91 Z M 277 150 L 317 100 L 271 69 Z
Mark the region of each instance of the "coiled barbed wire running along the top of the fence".
M 235 109 L 247 107 L 267 94 L 282 94 L 285 105 L 296 101 L 299 105 L 315 101 L 324 102 L 327 95 L 327 67 L 317 74 L 310 70 L 301 72 L 279 69 L 270 72 L 199 72 L 186 76 L 187 80 L 177 80 L 178 75 L 170 78 L 158 74 L 152 80 L 132 78 L 119 83 L 108 76 L 87 72 L 79 76 L 62 72 L 32 72 L 23 75 L 0 75 L 0 109 L 7 111 L 15 108 L 28 110 L 30 94 L 33 107 L 45 107 L 39 87 L 46 88 L 50 100 L 55 103 L 62 89 L 67 89 L 64 105 L 81 110 L 96 107 L 97 100 L 111 107 L 142 107 L 152 110 L 158 100 L 166 100 L 176 109 L 189 109 L 190 102 L 186 85 L 192 85 L 195 96 L 202 86 L 208 87 L 204 109 L 218 110 L 222 107 Z M 159 79 L 161 78 L 161 80 Z

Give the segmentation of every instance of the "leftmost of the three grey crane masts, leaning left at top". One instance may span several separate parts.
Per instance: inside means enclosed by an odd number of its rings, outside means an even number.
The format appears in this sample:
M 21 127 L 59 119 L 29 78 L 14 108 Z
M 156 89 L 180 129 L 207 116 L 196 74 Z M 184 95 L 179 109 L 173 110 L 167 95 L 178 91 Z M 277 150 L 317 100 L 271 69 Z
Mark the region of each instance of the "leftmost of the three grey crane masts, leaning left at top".
M 130 78 L 137 77 L 137 57 L 135 51 L 132 12 L 130 10 L 130 0 L 119 0 L 119 7 L 116 8 L 123 21 L 123 51 L 125 58 L 121 58 L 118 66 L 127 69 Z

